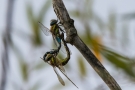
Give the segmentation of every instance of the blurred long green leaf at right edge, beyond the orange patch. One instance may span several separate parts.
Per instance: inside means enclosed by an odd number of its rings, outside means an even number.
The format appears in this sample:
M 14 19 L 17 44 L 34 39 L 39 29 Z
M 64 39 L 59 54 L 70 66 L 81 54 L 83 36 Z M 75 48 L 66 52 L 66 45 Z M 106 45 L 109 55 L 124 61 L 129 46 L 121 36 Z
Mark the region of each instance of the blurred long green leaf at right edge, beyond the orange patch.
M 130 77 L 135 78 L 135 72 L 133 69 L 133 60 L 122 56 L 113 50 L 109 50 L 107 47 L 102 47 L 102 55 L 114 64 L 116 67 L 121 68 L 124 72 L 129 75 Z M 135 64 L 135 63 L 134 63 Z

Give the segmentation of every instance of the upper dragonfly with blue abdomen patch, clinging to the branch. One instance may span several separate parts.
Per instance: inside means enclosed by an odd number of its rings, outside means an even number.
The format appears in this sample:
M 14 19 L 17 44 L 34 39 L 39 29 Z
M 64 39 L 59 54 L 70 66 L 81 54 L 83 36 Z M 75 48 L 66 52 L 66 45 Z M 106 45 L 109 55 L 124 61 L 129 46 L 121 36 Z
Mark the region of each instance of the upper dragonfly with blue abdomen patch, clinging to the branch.
M 58 51 L 61 47 L 63 47 L 63 44 L 61 43 L 61 39 L 64 38 L 64 30 L 61 29 L 60 22 L 58 23 L 58 20 L 52 19 L 50 21 L 50 29 L 45 27 L 42 23 L 39 22 L 39 26 L 43 33 L 48 36 L 52 34 L 53 40 L 58 47 Z M 61 49 L 63 52 L 65 52 L 64 49 Z

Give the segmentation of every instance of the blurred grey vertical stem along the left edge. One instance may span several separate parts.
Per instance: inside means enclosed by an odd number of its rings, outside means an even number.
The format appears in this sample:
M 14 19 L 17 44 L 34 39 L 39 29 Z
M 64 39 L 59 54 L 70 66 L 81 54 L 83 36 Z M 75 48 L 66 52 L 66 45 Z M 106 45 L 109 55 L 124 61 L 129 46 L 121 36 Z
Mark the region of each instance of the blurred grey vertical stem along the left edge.
M 13 6 L 14 0 L 8 0 L 8 8 L 7 8 L 7 17 L 6 17 L 6 33 L 3 38 L 4 48 L 2 55 L 2 73 L 1 73 L 1 83 L 0 83 L 0 90 L 5 90 L 6 82 L 7 82 L 7 71 L 9 68 L 9 58 L 8 58 L 8 47 L 10 42 L 10 32 L 12 26 L 12 15 L 13 15 Z

